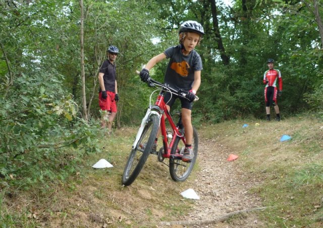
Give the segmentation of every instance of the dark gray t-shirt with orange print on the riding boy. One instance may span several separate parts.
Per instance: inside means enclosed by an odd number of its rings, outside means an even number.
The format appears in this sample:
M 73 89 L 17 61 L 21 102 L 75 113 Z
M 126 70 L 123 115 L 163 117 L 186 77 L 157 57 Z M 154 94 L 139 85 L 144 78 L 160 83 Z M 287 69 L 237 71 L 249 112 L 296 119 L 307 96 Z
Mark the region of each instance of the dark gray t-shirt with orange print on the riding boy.
M 184 55 L 181 45 L 169 47 L 164 53 L 167 59 L 170 58 L 164 83 L 174 89 L 192 89 L 194 72 L 203 69 L 200 55 L 194 49 L 189 55 Z

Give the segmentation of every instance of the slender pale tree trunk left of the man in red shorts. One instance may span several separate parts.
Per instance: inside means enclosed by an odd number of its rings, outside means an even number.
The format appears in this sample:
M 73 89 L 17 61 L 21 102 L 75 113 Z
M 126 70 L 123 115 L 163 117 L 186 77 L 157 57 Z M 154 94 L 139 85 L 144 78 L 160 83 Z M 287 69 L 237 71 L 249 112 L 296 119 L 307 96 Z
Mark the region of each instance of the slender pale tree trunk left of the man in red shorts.
M 86 106 L 86 91 L 85 91 L 85 68 L 84 68 L 84 8 L 83 0 L 79 0 L 81 9 L 81 32 L 80 32 L 80 45 L 81 45 L 81 77 L 82 77 L 82 104 L 83 104 L 83 119 L 87 122 L 87 106 Z

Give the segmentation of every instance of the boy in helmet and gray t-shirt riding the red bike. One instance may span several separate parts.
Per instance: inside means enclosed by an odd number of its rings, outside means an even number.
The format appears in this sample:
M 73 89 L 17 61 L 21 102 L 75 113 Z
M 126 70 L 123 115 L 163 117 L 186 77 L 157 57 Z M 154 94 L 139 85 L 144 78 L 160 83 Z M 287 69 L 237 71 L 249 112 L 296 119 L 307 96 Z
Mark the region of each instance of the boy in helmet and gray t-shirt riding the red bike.
M 200 55 L 194 50 L 204 35 L 204 30 L 201 24 L 196 21 L 184 22 L 179 30 L 179 42 L 177 46 L 167 48 L 163 53 L 154 56 L 148 61 L 145 68 L 140 72 L 140 78 L 146 82 L 149 78 L 149 70 L 158 62 L 164 59 L 170 59 L 164 83 L 174 89 L 180 89 L 188 92 L 186 98 L 181 98 L 167 92 L 165 95 L 165 103 L 167 109 L 170 110 L 176 98 L 181 101 L 182 123 L 185 129 L 186 145 L 182 160 L 189 162 L 193 159 L 194 153 L 192 150 L 193 127 L 191 123 L 191 110 L 195 94 L 201 84 L 202 60 Z M 160 134 L 158 130 L 155 143 Z M 155 146 L 156 148 L 156 146 Z

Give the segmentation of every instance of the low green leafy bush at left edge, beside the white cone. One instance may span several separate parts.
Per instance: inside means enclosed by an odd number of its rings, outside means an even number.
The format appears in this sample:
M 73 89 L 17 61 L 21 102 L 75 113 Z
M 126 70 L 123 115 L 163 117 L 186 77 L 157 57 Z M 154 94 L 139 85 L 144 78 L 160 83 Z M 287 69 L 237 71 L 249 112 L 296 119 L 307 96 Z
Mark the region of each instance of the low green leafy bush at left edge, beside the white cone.
M 84 144 L 87 149 L 79 153 L 97 150 L 99 124 L 78 117 L 78 106 L 62 81 L 55 72 L 42 72 L 17 77 L 8 90 L 1 90 L 0 178 L 39 181 L 32 178 L 38 168 L 38 177 L 48 177 L 46 168 L 69 164 L 71 159 L 62 159 L 68 148 Z

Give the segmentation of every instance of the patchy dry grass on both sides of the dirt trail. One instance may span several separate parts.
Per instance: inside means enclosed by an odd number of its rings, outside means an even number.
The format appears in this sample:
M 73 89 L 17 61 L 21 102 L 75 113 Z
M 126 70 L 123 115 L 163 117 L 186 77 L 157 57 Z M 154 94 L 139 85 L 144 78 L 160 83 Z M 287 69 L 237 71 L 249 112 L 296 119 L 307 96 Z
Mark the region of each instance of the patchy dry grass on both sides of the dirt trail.
M 242 128 L 243 124 L 249 126 Z M 200 138 L 216 139 L 235 151 L 239 155 L 236 165 L 261 182 L 252 191 L 269 207 L 254 215 L 266 227 L 319 227 L 323 225 L 321 126 L 322 121 L 314 117 L 299 116 L 282 122 L 249 119 L 201 125 L 198 131 Z M 194 203 L 179 194 L 189 182 L 173 182 L 168 167 L 154 156 L 149 156 L 135 185 L 121 185 L 136 131 L 124 128 L 112 137 L 101 137 L 99 151 L 85 157 L 78 156 L 77 151 L 66 151 L 73 162 L 65 159 L 55 172 L 34 169 L 30 176 L 38 181 L 32 185 L 27 177 L 25 185 L 0 185 L 0 224 L 151 227 L 187 214 Z M 280 142 L 284 134 L 291 140 Z M 114 168 L 91 168 L 101 158 Z M 194 169 L 201 165 L 196 164 Z M 195 175 L 193 171 L 190 178 Z M 228 222 L 239 223 L 239 219 L 243 218 L 234 216 Z

